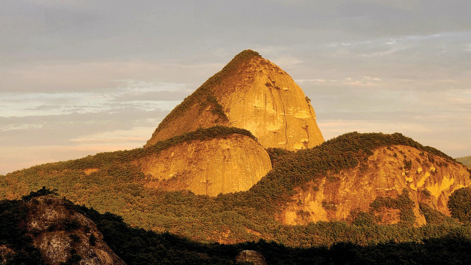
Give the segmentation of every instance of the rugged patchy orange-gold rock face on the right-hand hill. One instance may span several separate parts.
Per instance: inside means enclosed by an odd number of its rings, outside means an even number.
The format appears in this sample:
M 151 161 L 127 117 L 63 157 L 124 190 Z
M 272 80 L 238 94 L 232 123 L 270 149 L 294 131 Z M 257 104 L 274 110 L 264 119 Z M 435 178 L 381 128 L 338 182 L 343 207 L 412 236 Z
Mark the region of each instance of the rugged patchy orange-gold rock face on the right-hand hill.
M 419 203 L 449 216 L 446 206 L 449 195 L 470 185 L 470 172 L 462 165 L 410 146 L 382 147 L 364 165 L 298 187 L 280 220 L 285 224 L 342 220 L 354 209 L 367 212 L 379 196 L 396 198 L 405 188 L 415 203 L 415 224 L 421 225 L 425 218 Z M 398 209 L 384 210 L 383 223 L 399 221 Z

